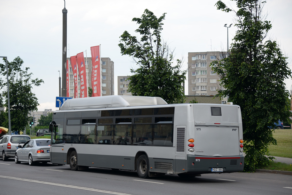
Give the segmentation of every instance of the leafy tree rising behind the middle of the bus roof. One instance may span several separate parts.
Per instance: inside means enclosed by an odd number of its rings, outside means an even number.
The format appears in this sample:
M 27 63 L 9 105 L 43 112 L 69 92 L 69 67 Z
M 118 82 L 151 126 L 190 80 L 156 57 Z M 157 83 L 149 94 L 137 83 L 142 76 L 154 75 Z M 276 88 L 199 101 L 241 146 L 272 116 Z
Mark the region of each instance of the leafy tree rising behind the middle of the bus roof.
M 173 51 L 161 40 L 164 13 L 157 18 L 153 12 L 145 9 L 141 18 L 132 21 L 139 24 L 135 32 L 142 36 L 140 40 L 127 31 L 121 35 L 119 47 L 122 55 L 133 57 L 139 68 L 131 69 L 129 90 L 134 96 L 158 96 L 167 103 L 183 103 L 185 94 L 182 83 L 186 70 L 181 71 L 182 61 L 173 65 Z

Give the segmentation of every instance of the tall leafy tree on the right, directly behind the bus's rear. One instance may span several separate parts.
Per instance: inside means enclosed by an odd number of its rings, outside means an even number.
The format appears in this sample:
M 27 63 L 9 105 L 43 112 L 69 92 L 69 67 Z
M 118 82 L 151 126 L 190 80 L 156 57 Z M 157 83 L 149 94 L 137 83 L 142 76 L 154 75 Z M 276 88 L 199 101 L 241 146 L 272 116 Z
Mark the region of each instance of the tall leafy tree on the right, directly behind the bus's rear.
M 226 89 L 218 90 L 218 96 L 228 95 L 229 101 L 241 107 L 246 143 L 244 170 L 254 172 L 273 158 L 264 156 L 269 155 L 270 144 L 277 144 L 268 126 L 273 126 L 278 119 L 287 121 L 291 115 L 284 83 L 291 76 L 291 70 L 279 45 L 267 39 L 272 25 L 262 13 L 265 2 L 233 1 L 238 11 L 228 8 L 222 1 L 216 3 L 217 9 L 236 14 L 238 31 L 228 56 L 211 65 Z

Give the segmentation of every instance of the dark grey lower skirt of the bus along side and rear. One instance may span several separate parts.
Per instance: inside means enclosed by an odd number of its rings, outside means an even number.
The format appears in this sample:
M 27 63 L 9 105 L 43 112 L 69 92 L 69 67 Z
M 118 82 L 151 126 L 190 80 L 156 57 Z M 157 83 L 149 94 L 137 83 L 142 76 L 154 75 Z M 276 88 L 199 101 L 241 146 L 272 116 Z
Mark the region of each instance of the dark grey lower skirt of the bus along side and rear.
M 67 164 L 65 153 L 54 153 L 54 162 Z M 197 161 L 196 161 L 197 160 Z M 78 165 L 88 167 L 115 168 L 124 170 L 135 170 L 135 156 L 111 156 L 98 154 L 77 153 Z M 68 162 L 69 163 L 69 162 Z M 194 165 L 192 165 L 194 163 Z M 241 163 L 241 164 L 240 164 Z M 244 156 L 195 156 L 187 155 L 187 160 L 149 158 L 150 172 L 169 174 L 178 173 L 224 173 L 243 171 Z M 212 172 L 211 168 L 223 168 L 223 172 Z

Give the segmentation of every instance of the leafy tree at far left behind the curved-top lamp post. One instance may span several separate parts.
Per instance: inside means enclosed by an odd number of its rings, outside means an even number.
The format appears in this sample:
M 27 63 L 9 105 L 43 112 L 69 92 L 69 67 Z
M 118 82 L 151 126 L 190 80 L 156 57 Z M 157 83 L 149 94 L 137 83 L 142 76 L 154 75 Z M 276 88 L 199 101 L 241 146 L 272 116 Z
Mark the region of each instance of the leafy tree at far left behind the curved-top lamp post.
M 0 64 L 1 75 L 6 78 L 6 63 Z M 25 126 L 31 121 L 28 116 L 29 111 L 37 111 L 39 105 L 38 99 L 32 93 L 32 87 L 40 86 L 43 80 L 32 79 L 32 73 L 28 73 L 29 68 L 23 67 L 23 61 L 20 57 L 8 63 L 9 77 L 9 97 L 10 97 L 10 115 L 11 115 L 11 131 L 24 130 Z M 3 91 L 5 97 L 4 112 L 5 120 L 3 126 L 8 127 L 8 96 L 6 79 L 0 80 L 0 90 Z M 2 114 L 2 113 L 1 113 Z

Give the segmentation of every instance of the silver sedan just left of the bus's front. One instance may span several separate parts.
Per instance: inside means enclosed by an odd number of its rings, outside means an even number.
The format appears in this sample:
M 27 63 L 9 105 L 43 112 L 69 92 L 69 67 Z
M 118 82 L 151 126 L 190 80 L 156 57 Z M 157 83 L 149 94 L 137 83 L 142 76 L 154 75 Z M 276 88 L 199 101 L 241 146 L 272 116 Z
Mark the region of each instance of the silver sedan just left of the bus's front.
M 15 163 L 28 162 L 29 165 L 34 165 L 38 162 L 50 162 L 50 146 L 51 139 L 30 139 L 23 146 L 18 146 Z

